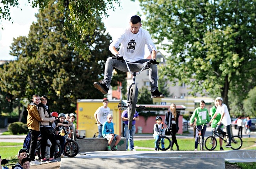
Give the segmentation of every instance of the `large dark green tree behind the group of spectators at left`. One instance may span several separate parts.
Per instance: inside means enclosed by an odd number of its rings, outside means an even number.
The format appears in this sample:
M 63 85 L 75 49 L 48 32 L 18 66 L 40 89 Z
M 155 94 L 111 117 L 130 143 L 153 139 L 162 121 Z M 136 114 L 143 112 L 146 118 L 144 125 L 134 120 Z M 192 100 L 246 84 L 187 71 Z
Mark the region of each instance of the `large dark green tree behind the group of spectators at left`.
M 51 2 L 36 15 L 28 37 L 14 39 L 11 55 L 18 59 L 0 69 L 0 87 L 21 100 L 47 95 L 52 111 L 70 113 L 78 98 L 103 97 L 92 84 L 102 79 L 106 58 L 111 56 L 111 37 L 101 27 L 88 35 L 83 43 L 90 55 L 85 59 L 70 45 L 63 31 L 65 17 L 58 4 Z

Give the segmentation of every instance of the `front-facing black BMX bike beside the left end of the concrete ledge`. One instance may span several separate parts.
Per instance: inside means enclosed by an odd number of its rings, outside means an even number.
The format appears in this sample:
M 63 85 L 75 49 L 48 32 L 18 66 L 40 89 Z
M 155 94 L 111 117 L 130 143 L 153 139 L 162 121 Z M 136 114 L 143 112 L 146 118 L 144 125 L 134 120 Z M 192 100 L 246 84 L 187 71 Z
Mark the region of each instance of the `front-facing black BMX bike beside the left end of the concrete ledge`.
M 64 144 L 63 153 L 65 154 L 65 156 L 75 157 L 79 152 L 79 146 L 78 143 L 75 140 L 73 140 L 74 133 L 71 132 L 70 136 L 70 127 L 68 129 L 69 130 L 67 131 L 66 128 L 64 128 L 66 142 Z

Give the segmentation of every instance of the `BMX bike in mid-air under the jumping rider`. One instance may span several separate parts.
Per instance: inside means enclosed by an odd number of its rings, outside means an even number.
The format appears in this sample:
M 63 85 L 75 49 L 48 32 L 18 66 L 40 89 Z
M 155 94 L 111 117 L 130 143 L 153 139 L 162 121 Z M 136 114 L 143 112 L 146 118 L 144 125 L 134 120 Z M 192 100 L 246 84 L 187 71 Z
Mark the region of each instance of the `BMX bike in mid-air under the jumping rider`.
M 112 57 L 112 59 L 116 59 L 116 57 Z M 145 106 L 139 106 L 139 107 L 136 106 L 137 100 L 138 100 L 138 88 L 135 83 L 136 75 L 140 74 L 143 71 L 143 69 L 146 67 L 146 65 L 149 64 L 149 61 L 146 61 L 144 63 L 128 62 L 125 59 L 123 59 L 123 61 L 126 63 L 128 71 L 133 75 L 133 77 L 132 77 L 133 83 L 129 86 L 129 89 L 128 89 L 127 106 L 124 106 L 123 103 L 119 103 L 118 109 L 123 110 L 124 108 L 128 108 L 127 109 L 127 114 L 128 114 L 128 119 L 129 119 L 128 129 L 131 130 L 132 129 L 132 120 L 133 120 L 133 116 L 134 116 L 136 108 L 139 108 L 140 110 L 145 110 Z M 129 64 L 142 65 L 143 67 L 139 72 L 132 72 L 132 71 L 130 71 Z M 159 62 L 156 62 L 156 64 L 159 64 Z

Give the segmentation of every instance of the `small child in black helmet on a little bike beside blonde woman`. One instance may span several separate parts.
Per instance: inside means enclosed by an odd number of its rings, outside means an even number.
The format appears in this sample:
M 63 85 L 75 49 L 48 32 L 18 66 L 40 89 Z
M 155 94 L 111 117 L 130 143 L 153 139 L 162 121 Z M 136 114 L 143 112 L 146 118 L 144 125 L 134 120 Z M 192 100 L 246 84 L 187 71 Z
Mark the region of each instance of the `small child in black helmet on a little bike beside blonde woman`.
M 162 122 L 162 118 L 160 116 L 156 117 L 156 124 L 154 124 L 154 134 L 153 137 L 155 139 L 155 151 L 157 151 L 156 147 L 156 141 L 159 139 L 159 136 L 164 136 L 165 129 L 164 129 L 164 123 Z M 162 148 L 164 148 L 164 144 L 162 144 Z

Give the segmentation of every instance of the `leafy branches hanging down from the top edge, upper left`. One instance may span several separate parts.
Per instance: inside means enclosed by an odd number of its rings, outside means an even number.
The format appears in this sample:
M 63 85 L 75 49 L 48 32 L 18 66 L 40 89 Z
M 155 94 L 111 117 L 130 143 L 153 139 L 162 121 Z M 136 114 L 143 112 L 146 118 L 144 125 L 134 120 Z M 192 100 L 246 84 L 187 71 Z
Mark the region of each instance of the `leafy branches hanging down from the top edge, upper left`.
M 39 6 L 44 10 L 52 3 L 52 0 L 27 0 L 32 7 Z M 10 7 L 18 7 L 18 0 L 1 0 L 0 25 L 2 19 L 11 20 Z M 78 51 L 82 57 L 87 58 L 90 49 L 84 43 L 88 36 L 93 36 L 95 29 L 103 28 L 101 17 L 108 16 L 107 10 L 114 9 L 114 5 L 120 6 L 118 0 L 56 0 L 58 10 L 63 15 L 64 31 L 70 45 Z M 2 27 L 3 29 L 3 27 Z

